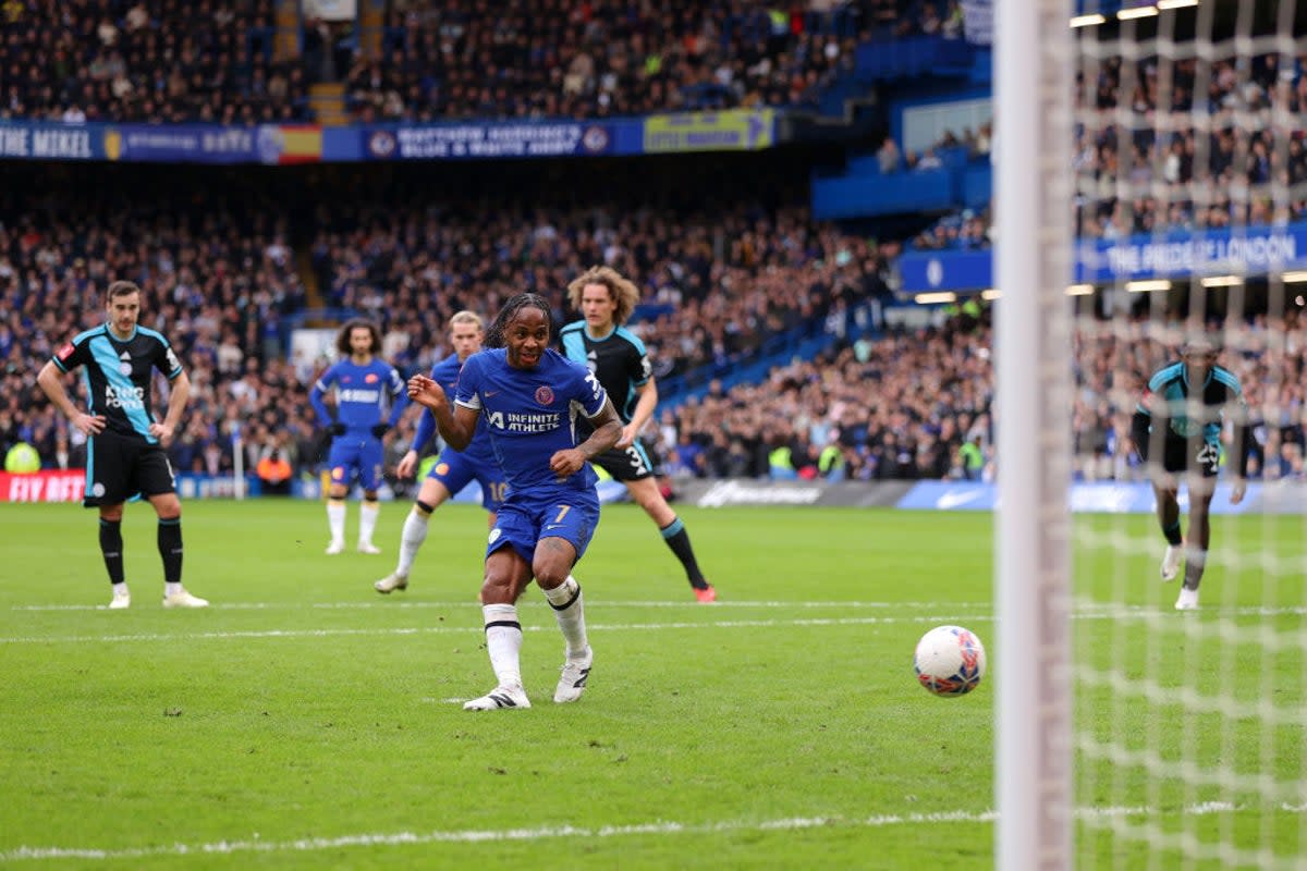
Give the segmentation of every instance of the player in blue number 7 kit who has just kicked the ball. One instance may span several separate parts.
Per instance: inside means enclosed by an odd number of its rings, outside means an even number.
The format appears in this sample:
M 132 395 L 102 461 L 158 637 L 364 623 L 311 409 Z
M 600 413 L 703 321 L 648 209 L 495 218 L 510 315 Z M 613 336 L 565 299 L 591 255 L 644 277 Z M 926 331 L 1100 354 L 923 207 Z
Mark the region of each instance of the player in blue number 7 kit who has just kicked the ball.
M 486 649 L 498 684 L 468 710 L 529 708 L 521 686 L 518 598 L 532 578 L 554 609 L 567 640 L 555 703 L 580 699 L 593 663 L 586 637 L 584 601 L 571 576 L 599 524 L 599 494 L 589 460 L 622 432 L 621 418 L 599 380 L 549 347 L 549 304 L 536 294 L 514 296 L 499 312 L 482 351 L 468 358 L 451 404 L 444 389 L 418 375 L 409 397 L 430 409 L 440 436 L 465 449 L 485 420 L 486 435 L 508 482 L 486 546 L 481 585 Z M 592 427 L 578 444 L 578 418 Z

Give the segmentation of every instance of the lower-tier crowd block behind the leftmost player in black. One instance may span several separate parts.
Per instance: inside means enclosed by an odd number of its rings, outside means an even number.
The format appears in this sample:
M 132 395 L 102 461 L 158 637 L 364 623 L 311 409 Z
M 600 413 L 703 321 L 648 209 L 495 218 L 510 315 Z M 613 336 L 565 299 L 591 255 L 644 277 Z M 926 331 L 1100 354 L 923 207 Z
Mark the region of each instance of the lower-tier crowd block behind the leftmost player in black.
M 22 440 L 46 465 L 85 462 L 84 436 L 35 376 L 60 343 L 105 321 L 103 291 L 119 278 L 141 286 L 141 323 L 174 342 L 191 377 L 174 467 L 230 469 L 238 427 L 261 441 L 305 435 L 305 389 L 282 349 L 282 320 L 305 289 L 285 222 L 271 217 L 278 209 L 235 176 L 201 204 L 166 185 L 133 193 L 136 174 L 94 185 L 60 175 L 0 189 L 0 448 Z

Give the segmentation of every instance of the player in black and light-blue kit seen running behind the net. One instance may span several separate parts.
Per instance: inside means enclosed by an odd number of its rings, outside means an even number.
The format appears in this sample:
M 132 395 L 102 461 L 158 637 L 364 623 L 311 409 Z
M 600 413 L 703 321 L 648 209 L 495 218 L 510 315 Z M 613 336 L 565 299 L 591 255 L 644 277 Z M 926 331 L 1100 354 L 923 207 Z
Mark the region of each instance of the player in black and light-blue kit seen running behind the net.
M 1142 401 L 1131 422 L 1131 437 L 1140 458 L 1149 466 L 1157 517 L 1166 537 L 1162 580 L 1170 581 L 1184 565 L 1184 582 L 1175 607 L 1199 607 L 1199 584 L 1212 543 L 1212 496 L 1221 470 L 1221 430 L 1229 414 L 1234 423 L 1234 482 L 1230 504 L 1243 501 L 1247 491 L 1248 453 L 1252 432 L 1243 388 L 1234 372 L 1217 366 L 1218 345 L 1205 337 L 1189 340 L 1180 359 L 1163 366 L 1149 379 Z M 1189 488 L 1189 529 L 1180 535 L 1180 483 Z

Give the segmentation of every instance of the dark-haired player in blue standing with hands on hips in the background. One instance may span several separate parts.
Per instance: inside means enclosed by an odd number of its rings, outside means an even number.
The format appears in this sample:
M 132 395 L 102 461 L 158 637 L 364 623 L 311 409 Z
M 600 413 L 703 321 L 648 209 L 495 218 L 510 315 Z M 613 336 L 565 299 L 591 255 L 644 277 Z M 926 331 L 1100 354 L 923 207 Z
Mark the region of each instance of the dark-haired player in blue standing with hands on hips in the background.
M 352 320 L 336 337 L 340 362 L 323 372 L 314 384 L 308 401 L 318 414 L 318 423 L 329 427 L 331 487 L 327 491 L 327 525 L 331 543 L 327 554 L 345 550 L 345 496 L 349 495 L 354 474 L 363 488 L 363 505 L 358 512 L 358 550 L 362 554 L 380 554 L 372 543 L 380 505 L 376 488 L 382 482 L 382 439 L 399 423 L 404 413 L 404 380 L 395 368 L 376 356 L 382 350 L 382 336 L 376 326 L 365 320 Z M 335 389 L 336 415 L 332 418 L 324 397 Z M 386 405 L 389 404 L 389 417 Z

